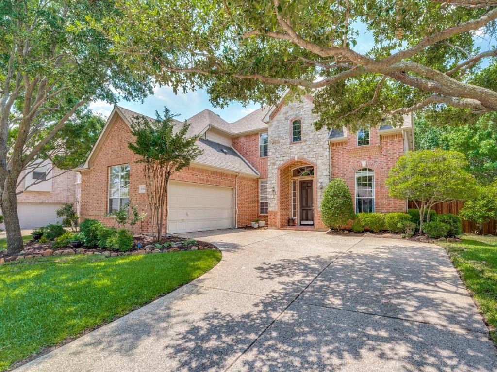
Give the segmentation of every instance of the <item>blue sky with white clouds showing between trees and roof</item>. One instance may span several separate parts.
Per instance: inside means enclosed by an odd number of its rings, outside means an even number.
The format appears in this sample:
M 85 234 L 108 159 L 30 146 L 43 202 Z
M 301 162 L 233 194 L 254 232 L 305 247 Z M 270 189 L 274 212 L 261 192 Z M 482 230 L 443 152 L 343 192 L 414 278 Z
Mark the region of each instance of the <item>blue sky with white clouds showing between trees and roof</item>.
M 359 53 L 366 53 L 374 45 L 373 37 L 366 30 L 364 24 L 357 25 L 357 29 L 359 31 L 359 37 L 357 39 L 358 43 L 354 49 Z M 475 41 L 477 45 L 482 47 L 482 51 L 488 50 L 492 44 L 495 44 L 495 40 L 485 40 L 481 36 L 481 33 L 478 32 L 475 36 Z M 259 108 L 259 105 L 256 104 L 244 107 L 239 102 L 232 102 L 224 109 L 214 108 L 209 102 L 208 94 L 203 89 L 199 89 L 194 92 L 187 92 L 186 94 L 178 93 L 175 95 L 172 88 L 168 86 L 157 86 L 154 89 L 154 95 L 147 97 L 143 104 L 141 102 L 122 101 L 120 105 L 140 114 L 152 117 L 155 117 L 156 110 L 162 112 L 164 106 L 167 106 L 171 113 L 178 114 L 176 119 L 181 121 L 204 109 L 210 109 L 230 123 L 243 118 L 247 114 Z M 112 111 L 112 106 L 102 101 L 91 103 L 90 108 L 94 112 L 101 114 L 105 119 L 107 119 Z

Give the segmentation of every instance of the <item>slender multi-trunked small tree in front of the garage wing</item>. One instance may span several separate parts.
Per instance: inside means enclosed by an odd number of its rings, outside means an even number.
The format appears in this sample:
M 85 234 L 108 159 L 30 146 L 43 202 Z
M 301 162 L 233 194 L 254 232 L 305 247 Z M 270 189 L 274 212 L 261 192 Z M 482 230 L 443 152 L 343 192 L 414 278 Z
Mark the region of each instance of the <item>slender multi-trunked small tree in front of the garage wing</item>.
M 167 107 L 164 117 L 156 112 L 156 120 L 137 116 L 131 123 L 131 133 L 136 137 L 128 146 L 143 164 L 145 186 L 151 210 L 152 234 L 159 242 L 164 224 L 164 205 L 171 176 L 190 165 L 203 152 L 197 145 L 198 135 L 187 135 L 190 124 L 181 127 L 173 120 Z

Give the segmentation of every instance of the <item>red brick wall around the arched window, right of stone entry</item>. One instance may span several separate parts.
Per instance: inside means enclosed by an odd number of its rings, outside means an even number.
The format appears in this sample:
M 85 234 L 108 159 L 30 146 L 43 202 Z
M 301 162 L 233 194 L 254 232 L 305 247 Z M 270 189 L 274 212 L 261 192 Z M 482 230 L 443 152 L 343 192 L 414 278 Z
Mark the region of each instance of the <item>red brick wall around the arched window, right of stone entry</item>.
M 376 212 L 405 211 L 406 201 L 388 196 L 385 179 L 388 172 L 404 153 L 401 133 L 380 136 L 377 129 L 371 129 L 371 144 L 357 147 L 357 139 L 349 133 L 346 141 L 331 143 L 331 177 L 342 178 L 352 193 L 355 208 L 355 172 L 371 168 L 375 175 Z

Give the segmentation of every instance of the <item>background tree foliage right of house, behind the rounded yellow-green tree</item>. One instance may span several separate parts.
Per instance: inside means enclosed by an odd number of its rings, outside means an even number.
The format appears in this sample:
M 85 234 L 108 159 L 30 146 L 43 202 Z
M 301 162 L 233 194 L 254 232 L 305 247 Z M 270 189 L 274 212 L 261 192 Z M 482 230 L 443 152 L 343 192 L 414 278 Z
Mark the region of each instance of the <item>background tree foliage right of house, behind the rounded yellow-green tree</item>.
M 497 114 L 482 116 L 476 123 L 454 126 L 434 125 L 426 115 L 415 116 L 416 149 L 442 148 L 464 153 L 467 171 L 482 184 L 497 181 Z

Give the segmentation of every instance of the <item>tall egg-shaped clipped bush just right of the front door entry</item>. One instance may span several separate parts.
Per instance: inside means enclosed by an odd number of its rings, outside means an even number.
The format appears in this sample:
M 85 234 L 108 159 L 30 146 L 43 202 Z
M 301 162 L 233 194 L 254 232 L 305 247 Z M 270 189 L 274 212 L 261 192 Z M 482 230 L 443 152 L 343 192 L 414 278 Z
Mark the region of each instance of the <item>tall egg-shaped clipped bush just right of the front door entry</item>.
M 352 196 L 347 184 L 341 178 L 331 180 L 321 201 L 321 218 L 324 224 L 341 230 L 353 217 Z

